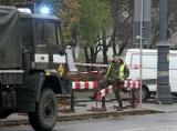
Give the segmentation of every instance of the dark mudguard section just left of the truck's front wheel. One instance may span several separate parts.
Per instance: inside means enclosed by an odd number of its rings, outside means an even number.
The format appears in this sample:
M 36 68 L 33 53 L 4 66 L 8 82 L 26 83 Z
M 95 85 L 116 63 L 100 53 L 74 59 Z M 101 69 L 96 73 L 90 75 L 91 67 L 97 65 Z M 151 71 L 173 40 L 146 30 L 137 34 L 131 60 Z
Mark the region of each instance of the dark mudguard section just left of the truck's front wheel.
M 45 75 L 42 72 L 34 72 L 27 75 L 23 84 L 18 88 L 18 110 L 20 112 L 34 112 L 35 102 L 42 90 Z

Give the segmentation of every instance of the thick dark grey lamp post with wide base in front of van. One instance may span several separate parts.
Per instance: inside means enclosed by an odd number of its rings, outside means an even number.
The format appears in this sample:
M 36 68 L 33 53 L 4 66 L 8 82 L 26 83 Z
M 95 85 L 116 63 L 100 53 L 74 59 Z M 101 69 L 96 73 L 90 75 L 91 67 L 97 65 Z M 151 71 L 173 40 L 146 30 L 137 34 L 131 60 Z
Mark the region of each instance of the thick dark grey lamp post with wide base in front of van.
M 159 41 L 156 102 L 171 104 L 169 85 L 169 44 L 167 42 L 167 0 L 159 0 Z

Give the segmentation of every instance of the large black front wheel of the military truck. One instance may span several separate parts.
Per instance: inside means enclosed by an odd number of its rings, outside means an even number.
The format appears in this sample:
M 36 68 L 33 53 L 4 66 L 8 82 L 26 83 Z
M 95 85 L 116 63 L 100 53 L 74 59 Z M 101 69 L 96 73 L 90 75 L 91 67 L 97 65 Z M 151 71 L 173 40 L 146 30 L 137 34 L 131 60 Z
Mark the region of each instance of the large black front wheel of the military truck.
M 44 89 L 35 112 L 29 113 L 29 121 L 37 131 L 49 131 L 54 128 L 58 117 L 58 100 L 51 89 Z

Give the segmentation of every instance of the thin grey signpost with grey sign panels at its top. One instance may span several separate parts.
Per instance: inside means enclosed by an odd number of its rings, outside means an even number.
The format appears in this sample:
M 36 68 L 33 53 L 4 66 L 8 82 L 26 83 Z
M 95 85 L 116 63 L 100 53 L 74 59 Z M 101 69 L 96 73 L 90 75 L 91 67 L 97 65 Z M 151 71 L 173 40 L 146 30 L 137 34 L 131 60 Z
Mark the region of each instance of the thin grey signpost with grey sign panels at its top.
M 134 27 L 133 42 L 139 44 L 139 81 L 140 95 L 139 107 L 142 107 L 142 79 L 143 79 L 143 44 L 150 43 L 150 18 L 152 18 L 152 0 L 134 0 Z

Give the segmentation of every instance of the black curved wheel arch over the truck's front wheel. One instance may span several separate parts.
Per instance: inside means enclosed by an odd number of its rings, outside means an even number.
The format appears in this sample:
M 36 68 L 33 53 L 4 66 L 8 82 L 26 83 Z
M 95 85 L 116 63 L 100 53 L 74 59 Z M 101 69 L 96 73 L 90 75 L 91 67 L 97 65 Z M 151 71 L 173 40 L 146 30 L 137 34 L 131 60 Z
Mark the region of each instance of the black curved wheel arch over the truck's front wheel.
M 63 93 L 62 81 L 56 74 L 51 73 L 48 77 L 45 75 L 45 71 L 42 70 L 30 71 L 18 90 L 18 100 L 22 103 L 20 110 L 34 111 L 34 105 L 31 109 L 23 109 L 23 107 L 27 102 L 31 102 L 32 104 L 39 102 L 44 88 L 50 88 L 54 93 Z

